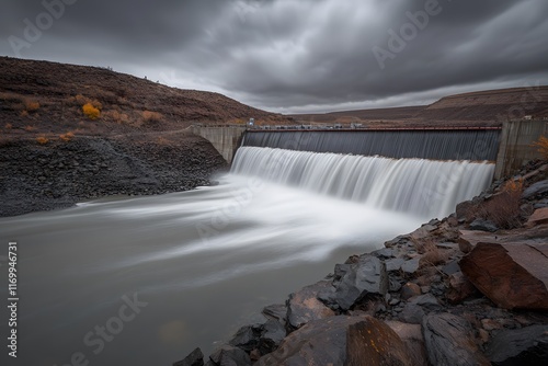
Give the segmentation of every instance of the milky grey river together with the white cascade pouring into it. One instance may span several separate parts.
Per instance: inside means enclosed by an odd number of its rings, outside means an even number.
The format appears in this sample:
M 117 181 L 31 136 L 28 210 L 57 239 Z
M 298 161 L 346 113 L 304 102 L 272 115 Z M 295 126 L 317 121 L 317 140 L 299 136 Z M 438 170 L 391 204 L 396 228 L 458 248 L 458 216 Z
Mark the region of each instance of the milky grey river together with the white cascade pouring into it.
M 386 144 L 402 156 L 416 149 Z M 470 146 L 429 144 L 422 148 L 442 156 Z M 243 147 L 218 185 L 192 192 L 0 219 L 4 248 L 19 248 L 18 362 L 170 365 L 196 346 L 209 353 L 261 321 L 263 306 L 283 302 L 351 254 L 452 213 L 493 173 L 493 164 L 477 162 L 487 156 L 295 150 Z M 1 317 L 9 319 L 5 307 Z

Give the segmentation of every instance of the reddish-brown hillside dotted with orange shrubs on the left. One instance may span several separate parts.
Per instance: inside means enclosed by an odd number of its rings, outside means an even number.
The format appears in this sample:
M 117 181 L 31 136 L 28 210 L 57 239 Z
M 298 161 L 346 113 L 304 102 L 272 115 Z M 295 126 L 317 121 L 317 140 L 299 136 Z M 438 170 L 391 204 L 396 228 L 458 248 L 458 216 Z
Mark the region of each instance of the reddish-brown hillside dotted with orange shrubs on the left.
M 99 118 L 84 114 L 88 103 L 100 110 Z M 285 121 L 219 93 L 170 88 L 106 68 L 0 57 L 0 130 L 12 135 L 167 130 L 250 117 Z

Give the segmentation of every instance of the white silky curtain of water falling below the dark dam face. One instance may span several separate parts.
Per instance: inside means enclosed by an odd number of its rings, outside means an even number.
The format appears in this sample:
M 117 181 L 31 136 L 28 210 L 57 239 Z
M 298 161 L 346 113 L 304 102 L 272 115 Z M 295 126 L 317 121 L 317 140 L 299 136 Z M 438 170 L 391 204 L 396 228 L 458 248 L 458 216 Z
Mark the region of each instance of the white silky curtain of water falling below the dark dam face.
M 309 192 L 424 218 L 445 217 L 487 188 L 488 162 L 388 159 L 241 147 L 232 174 L 258 176 Z

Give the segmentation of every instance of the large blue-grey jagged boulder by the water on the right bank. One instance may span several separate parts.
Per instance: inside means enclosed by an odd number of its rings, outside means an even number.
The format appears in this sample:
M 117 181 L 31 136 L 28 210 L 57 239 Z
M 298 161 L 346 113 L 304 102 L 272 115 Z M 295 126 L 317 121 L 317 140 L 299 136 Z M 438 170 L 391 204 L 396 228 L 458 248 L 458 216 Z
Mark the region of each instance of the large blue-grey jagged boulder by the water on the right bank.
M 334 291 L 323 291 L 319 298 L 333 308 L 346 311 L 368 294 L 384 297 L 388 285 L 385 263 L 376 256 L 363 255 L 357 263 L 338 264 Z

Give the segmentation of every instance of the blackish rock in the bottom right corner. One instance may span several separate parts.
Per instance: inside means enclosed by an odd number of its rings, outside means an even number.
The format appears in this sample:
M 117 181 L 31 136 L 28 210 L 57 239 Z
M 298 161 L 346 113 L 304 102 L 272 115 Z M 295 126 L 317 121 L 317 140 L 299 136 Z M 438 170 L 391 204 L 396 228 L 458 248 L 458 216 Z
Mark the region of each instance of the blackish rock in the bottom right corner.
M 498 333 L 487 345 L 492 365 L 548 365 L 548 325 L 532 325 Z

